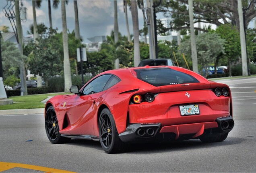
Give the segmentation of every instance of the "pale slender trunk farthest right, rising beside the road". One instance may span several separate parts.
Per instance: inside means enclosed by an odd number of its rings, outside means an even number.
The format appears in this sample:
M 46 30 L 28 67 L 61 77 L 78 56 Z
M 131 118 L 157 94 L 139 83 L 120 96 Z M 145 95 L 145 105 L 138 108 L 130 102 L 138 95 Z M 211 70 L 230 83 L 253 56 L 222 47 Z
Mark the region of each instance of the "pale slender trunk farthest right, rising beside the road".
M 241 54 L 242 54 L 242 70 L 243 76 L 248 76 L 248 67 L 247 67 L 247 55 L 246 55 L 246 39 L 244 32 L 244 19 L 242 12 L 242 0 L 237 0 L 238 4 L 238 14 L 239 14 L 239 26 L 240 26 L 240 42 L 241 42 Z

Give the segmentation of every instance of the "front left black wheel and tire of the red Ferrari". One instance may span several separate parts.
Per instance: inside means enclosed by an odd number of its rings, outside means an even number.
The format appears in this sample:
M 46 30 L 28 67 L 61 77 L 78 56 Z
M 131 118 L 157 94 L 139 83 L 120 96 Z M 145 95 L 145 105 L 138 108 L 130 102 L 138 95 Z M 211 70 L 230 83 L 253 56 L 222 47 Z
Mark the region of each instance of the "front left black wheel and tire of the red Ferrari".
M 67 143 L 71 138 L 61 137 L 54 107 L 50 106 L 45 113 L 45 131 L 51 143 Z

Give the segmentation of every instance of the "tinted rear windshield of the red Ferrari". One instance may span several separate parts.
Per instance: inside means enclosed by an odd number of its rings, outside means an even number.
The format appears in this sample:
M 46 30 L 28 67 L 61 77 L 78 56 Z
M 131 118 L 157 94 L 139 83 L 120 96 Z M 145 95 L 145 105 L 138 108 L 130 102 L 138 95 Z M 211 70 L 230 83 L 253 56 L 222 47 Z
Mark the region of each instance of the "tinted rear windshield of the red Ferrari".
M 170 68 L 151 68 L 135 70 L 138 79 L 155 87 L 173 84 L 199 83 L 193 76 Z

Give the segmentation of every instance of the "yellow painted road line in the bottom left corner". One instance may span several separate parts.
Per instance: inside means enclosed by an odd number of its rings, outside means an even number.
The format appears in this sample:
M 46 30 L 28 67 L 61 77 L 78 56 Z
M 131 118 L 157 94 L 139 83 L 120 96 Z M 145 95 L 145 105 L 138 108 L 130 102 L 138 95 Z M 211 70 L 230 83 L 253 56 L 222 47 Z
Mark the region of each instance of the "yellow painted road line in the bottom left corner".
M 74 172 L 71 172 L 71 171 L 65 171 L 65 170 L 61 170 L 61 169 L 41 167 L 41 166 L 35 166 L 35 165 L 27 165 L 27 164 L 21 164 L 21 163 L 0 162 L 0 172 L 6 171 L 8 169 L 12 169 L 14 167 L 25 168 L 25 169 L 32 169 L 32 170 L 44 171 L 44 172 L 50 172 L 50 173 L 74 173 Z

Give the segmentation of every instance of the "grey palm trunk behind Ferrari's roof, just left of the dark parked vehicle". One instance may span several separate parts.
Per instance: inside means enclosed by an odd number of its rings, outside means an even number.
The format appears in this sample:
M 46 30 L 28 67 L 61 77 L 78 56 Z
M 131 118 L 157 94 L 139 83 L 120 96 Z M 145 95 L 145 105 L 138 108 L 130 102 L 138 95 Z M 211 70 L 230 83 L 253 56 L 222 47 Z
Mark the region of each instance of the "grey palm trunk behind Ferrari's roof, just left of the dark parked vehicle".
M 139 27 L 138 27 L 138 8 L 136 0 L 131 0 L 133 40 L 134 40 L 134 66 L 140 63 L 140 44 L 139 44 Z

